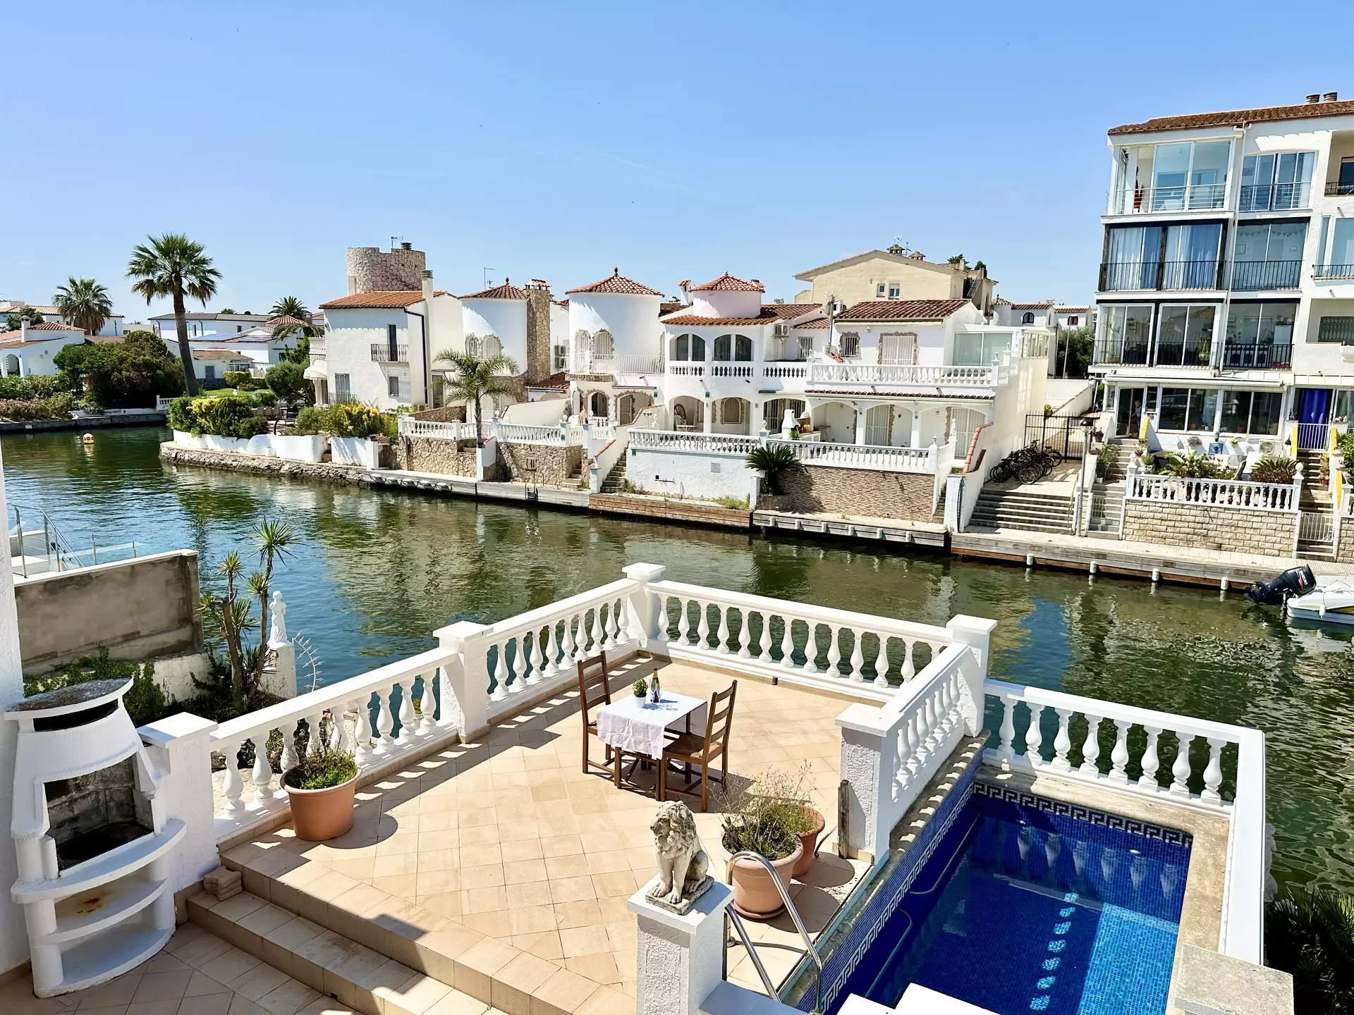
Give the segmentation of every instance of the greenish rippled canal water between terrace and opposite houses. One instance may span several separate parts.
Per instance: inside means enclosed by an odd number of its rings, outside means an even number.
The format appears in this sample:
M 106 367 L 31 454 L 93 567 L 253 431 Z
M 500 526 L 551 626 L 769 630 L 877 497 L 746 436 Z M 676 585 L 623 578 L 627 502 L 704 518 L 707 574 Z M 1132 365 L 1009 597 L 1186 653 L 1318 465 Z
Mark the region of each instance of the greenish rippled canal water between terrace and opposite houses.
M 87 447 L 76 433 L 7 436 L 9 503 L 45 510 L 76 545 L 196 549 L 206 583 L 222 555 L 248 548 L 256 518 L 291 522 L 301 539 L 275 587 L 320 683 L 429 648 L 448 621 L 498 620 L 639 560 L 666 564 L 674 581 L 932 624 L 994 617 L 994 677 L 1263 729 L 1275 877 L 1354 892 L 1349 633 L 1284 623 L 1239 593 L 175 470 L 157 455 L 167 437 L 104 430 Z

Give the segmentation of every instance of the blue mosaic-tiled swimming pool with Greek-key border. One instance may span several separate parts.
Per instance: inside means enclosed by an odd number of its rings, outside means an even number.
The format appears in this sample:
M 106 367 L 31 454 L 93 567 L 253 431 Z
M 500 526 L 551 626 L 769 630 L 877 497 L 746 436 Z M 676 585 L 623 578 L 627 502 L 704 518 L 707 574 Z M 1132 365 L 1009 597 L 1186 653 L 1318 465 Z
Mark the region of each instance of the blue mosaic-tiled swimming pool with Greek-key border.
M 1164 1012 L 1190 846 L 974 782 L 848 960 L 829 1012 L 852 993 L 892 1007 L 913 983 L 1001 1015 Z

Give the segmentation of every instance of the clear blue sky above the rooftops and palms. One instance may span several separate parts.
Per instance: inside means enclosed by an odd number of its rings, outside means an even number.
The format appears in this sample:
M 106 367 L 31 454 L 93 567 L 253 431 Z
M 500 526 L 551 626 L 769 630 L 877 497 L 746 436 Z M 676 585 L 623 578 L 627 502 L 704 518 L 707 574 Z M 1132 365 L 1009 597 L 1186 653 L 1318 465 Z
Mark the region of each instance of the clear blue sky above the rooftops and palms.
M 458 294 L 619 265 L 791 298 L 900 237 L 1010 299 L 1085 300 L 1108 127 L 1354 97 L 1354 14 L 1275 34 L 1293 9 L 16 4 L 0 296 L 92 276 L 144 315 L 127 254 L 175 230 L 223 272 L 213 306 L 256 313 L 344 295 L 344 248 L 391 235 Z

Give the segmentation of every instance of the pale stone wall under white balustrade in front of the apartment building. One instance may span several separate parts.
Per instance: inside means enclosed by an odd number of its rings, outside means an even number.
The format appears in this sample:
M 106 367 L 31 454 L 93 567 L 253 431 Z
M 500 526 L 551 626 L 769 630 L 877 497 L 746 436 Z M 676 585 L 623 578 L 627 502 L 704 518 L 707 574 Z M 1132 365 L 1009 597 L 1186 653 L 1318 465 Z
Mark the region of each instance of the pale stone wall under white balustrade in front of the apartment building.
M 1297 518 L 1289 512 L 1160 501 L 1124 502 L 1124 539 L 1136 543 L 1290 558 L 1296 525 Z

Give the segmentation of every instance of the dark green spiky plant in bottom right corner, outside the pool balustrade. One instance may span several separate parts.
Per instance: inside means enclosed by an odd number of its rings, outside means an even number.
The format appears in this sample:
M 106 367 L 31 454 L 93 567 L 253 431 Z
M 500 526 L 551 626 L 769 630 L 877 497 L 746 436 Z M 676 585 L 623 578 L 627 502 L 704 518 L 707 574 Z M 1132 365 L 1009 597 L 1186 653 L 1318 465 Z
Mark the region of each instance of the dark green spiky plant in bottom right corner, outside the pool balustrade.
M 1288 889 L 1265 911 L 1265 964 L 1293 976 L 1303 1015 L 1354 1012 L 1354 897 Z

